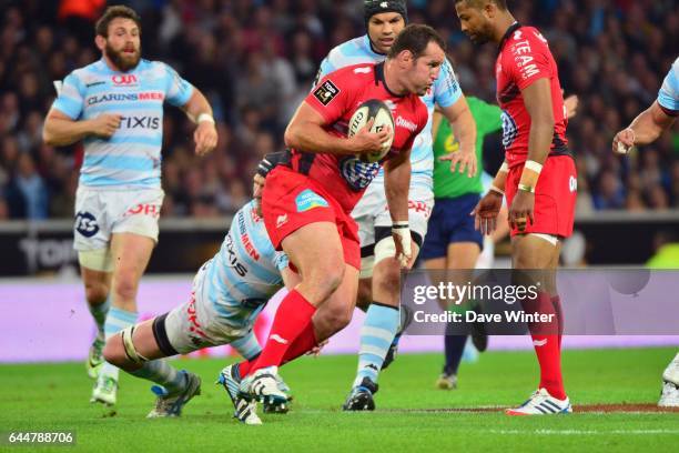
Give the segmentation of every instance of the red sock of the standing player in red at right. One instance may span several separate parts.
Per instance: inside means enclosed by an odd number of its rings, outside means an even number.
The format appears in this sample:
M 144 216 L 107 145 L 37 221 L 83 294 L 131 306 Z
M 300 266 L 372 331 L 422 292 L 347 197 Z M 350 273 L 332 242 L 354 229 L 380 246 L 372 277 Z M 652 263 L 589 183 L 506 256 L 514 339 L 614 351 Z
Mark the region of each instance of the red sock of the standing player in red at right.
M 535 301 L 524 304 L 526 312 L 539 312 L 540 314 L 556 314 L 551 303 L 551 296 L 546 292 L 538 292 Z M 564 378 L 561 375 L 561 349 L 559 341 L 559 322 L 557 316 L 551 323 L 529 324 L 530 338 L 535 353 L 540 364 L 540 389 L 546 389 L 549 394 L 558 400 L 566 397 Z

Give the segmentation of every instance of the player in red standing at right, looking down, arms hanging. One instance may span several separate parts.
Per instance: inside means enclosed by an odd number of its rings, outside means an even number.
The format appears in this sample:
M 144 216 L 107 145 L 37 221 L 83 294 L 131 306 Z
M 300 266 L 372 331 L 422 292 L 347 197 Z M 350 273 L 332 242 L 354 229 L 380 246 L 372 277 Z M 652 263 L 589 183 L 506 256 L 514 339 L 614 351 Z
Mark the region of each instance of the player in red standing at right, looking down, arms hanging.
M 560 241 L 572 232 L 576 168 L 567 148 L 566 110 L 558 70 L 547 40 L 519 24 L 505 0 L 456 0 L 462 30 L 476 43 L 499 47 L 497 101 L 503 109 L 505 162 L 491 190 L 473 211 L 482 232 L 495 229 L 503 195 L 509 205 L 514 269 L 545 270 L 536 300 L 526 312 L 556 314 L 550 324 L 529 324 L 540 365 L 538 390 L 510 415 L 571 412 L 561 376 L 559 298 L 555 270 Z

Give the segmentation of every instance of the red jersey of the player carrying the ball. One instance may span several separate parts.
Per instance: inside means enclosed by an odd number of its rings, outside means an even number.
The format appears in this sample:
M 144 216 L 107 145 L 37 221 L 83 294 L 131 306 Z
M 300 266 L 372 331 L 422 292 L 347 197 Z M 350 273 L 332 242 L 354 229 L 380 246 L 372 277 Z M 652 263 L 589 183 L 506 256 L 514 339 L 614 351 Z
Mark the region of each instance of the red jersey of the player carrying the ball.
M 325 129 L 336 137 L 347 137 L 352 114 L 371 99 L 384 101 L 395 123 L 392 149 L 379 163 L 362 162 L 355 155 L 292 150 L 293 170 L 321 183 L 347 213 L 377 175 L 381 164 L 413 147 L 427 123 L 427 108 L 417 94 L 396 95 L 389 91 L 384 82 L 384 63 L 355 64 L 332 72 L 305 99 L 325 119 Z

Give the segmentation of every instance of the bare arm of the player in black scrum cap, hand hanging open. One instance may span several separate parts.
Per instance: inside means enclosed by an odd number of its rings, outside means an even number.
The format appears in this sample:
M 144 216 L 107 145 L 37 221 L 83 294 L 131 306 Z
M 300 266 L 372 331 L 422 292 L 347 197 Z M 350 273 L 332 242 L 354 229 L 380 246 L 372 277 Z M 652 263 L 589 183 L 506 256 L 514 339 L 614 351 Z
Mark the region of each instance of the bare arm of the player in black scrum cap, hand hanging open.
M 472 178 L 476 174 L 478 162 L 476 162 L 476 121 L 467 104 L 467 99 L 462 95 L 453 105 L 440 109 L 440 112 L 450 122 L 450 128 L 459 142 L 459 152 L 452 152 L 440 158 L 442 161 L 450 161 L 450 171 L 467 173 Z

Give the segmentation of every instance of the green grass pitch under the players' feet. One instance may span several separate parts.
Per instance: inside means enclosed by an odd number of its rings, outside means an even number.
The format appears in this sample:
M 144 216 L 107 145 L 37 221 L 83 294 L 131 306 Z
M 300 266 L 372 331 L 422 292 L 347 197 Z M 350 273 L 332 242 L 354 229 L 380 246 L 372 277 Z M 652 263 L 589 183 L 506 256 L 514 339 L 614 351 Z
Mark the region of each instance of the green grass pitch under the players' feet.
M 509 417 L 500 409 L 535 390 L 538 369 L 530 351 L 489 352 L 478 363 L 463 363 L 455 391 L 434 389 L 439 355 L 401 355 L 381 376 L 373 413 L 340 410 L 355 356 L 304 358 L 282 369 L 295 396 L 292 411 L 262 415 L 262 426 L 231 417 L 229 397 L 212 384 L 225 364 L 221 360 L 173 361 L 203 379 L 202 395 L 174 420 L 144 419 L 154 401 L 150 383 L 124 373 L 110 415 L 88 402 L 92 381 L 82 363 L 2 365 L 0 432 L 75 432 L 74 446 L 37 447 L 41 452 L 672 451 L 679 412 L 653 411 L 660 373 L 675 354 L 676 349 L 565 351 L 576 413 L 541 417 Z M 32 450 L 19 451 L 27 449 Z M 0 450 L 17 451 L 2 441 Z

